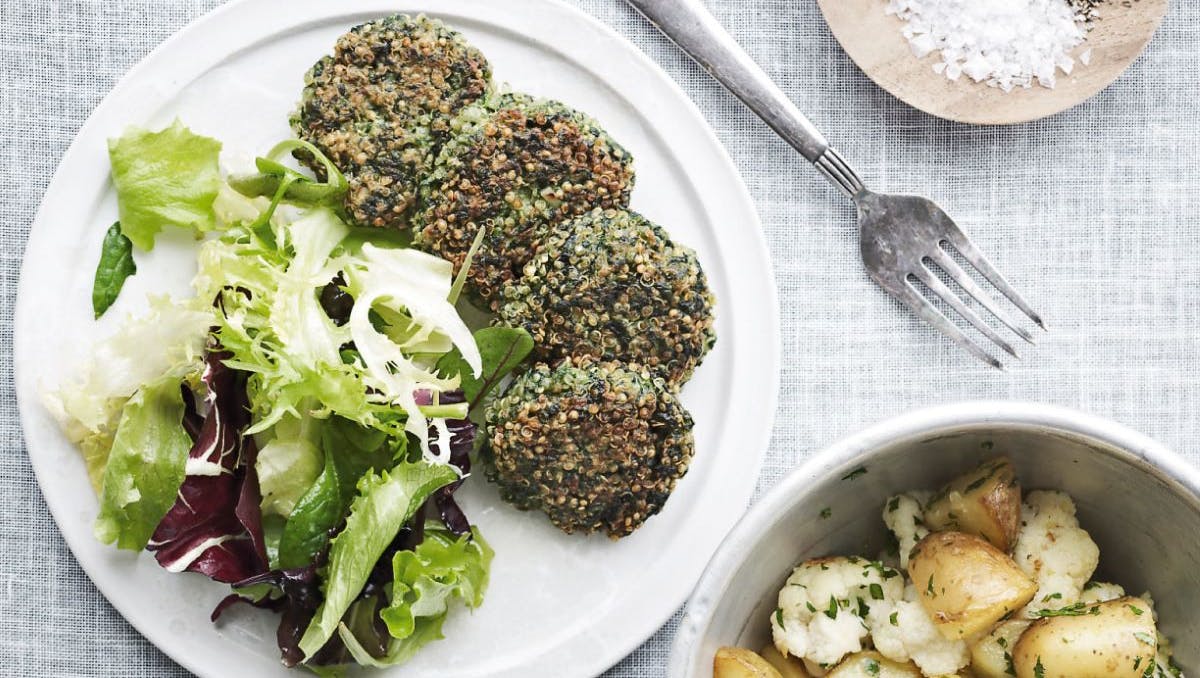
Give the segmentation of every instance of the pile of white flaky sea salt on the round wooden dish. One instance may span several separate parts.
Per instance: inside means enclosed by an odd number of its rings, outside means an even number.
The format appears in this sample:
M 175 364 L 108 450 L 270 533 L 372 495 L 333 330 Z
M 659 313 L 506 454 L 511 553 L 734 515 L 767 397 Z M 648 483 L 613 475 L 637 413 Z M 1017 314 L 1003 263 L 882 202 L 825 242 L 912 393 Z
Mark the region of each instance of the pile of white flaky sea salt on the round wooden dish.
M 937 53 L 934 72 L 1004 91 L 1054 88 L 1060 71 L 1075 68 L 1070 53 L 1087 36 L 1087 13 L 1072 0 L 887 0 L 886 11 L 906 22 L 918 59 Z M 1090 50 L 1080 55 L 1090 60 Z

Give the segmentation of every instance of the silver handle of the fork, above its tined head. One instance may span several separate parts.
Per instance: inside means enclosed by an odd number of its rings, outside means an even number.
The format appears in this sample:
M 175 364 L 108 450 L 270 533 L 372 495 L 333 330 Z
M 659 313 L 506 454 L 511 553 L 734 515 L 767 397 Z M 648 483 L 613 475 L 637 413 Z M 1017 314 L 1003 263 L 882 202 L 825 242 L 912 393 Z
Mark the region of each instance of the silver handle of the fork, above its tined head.
M 829 146 L 824 134 L 796 108 L 700 0 L 628 2 L 814 163 L 834 186 L 851 198 L 864 191 L 862 180 Z

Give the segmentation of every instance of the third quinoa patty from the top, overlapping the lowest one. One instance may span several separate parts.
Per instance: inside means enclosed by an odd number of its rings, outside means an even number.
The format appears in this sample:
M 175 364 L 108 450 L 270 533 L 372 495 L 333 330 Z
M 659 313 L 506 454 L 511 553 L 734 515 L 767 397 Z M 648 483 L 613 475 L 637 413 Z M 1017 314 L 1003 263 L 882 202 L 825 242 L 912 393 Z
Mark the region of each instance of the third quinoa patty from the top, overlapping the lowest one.
M 636 362 L 678 385 L 716 341 L 713 306 L 695 252 L 636 212 L 594 210 L 546 235 L 497 322 L 533 335 L 538 360 Z

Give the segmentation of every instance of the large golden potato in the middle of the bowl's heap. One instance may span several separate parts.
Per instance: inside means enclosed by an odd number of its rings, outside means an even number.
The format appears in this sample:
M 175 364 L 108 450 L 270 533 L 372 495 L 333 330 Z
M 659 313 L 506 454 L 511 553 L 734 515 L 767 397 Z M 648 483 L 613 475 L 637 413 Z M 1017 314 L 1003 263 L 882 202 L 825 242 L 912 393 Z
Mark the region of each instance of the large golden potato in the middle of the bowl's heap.
M 1038 590 L 1004 552 L 973 534 L 935 532 L 917 542 L 908 576 L 947 640 L 986 632 Z

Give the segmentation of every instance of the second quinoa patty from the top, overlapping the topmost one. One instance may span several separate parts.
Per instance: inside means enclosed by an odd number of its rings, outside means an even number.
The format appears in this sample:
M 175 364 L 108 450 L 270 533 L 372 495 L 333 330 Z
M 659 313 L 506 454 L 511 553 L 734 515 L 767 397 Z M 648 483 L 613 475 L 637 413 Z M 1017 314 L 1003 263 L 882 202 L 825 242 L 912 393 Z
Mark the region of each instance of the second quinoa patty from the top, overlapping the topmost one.
M 415 245 L 462 266 L 481 226 L 468 292 L 496 310 L 500 287 L 521 275 L 556 222 L 594 208 L 624 208 L 632 160 L 600 126 L 566 106 L 505 94 L 463 110 L 421 186 Z

